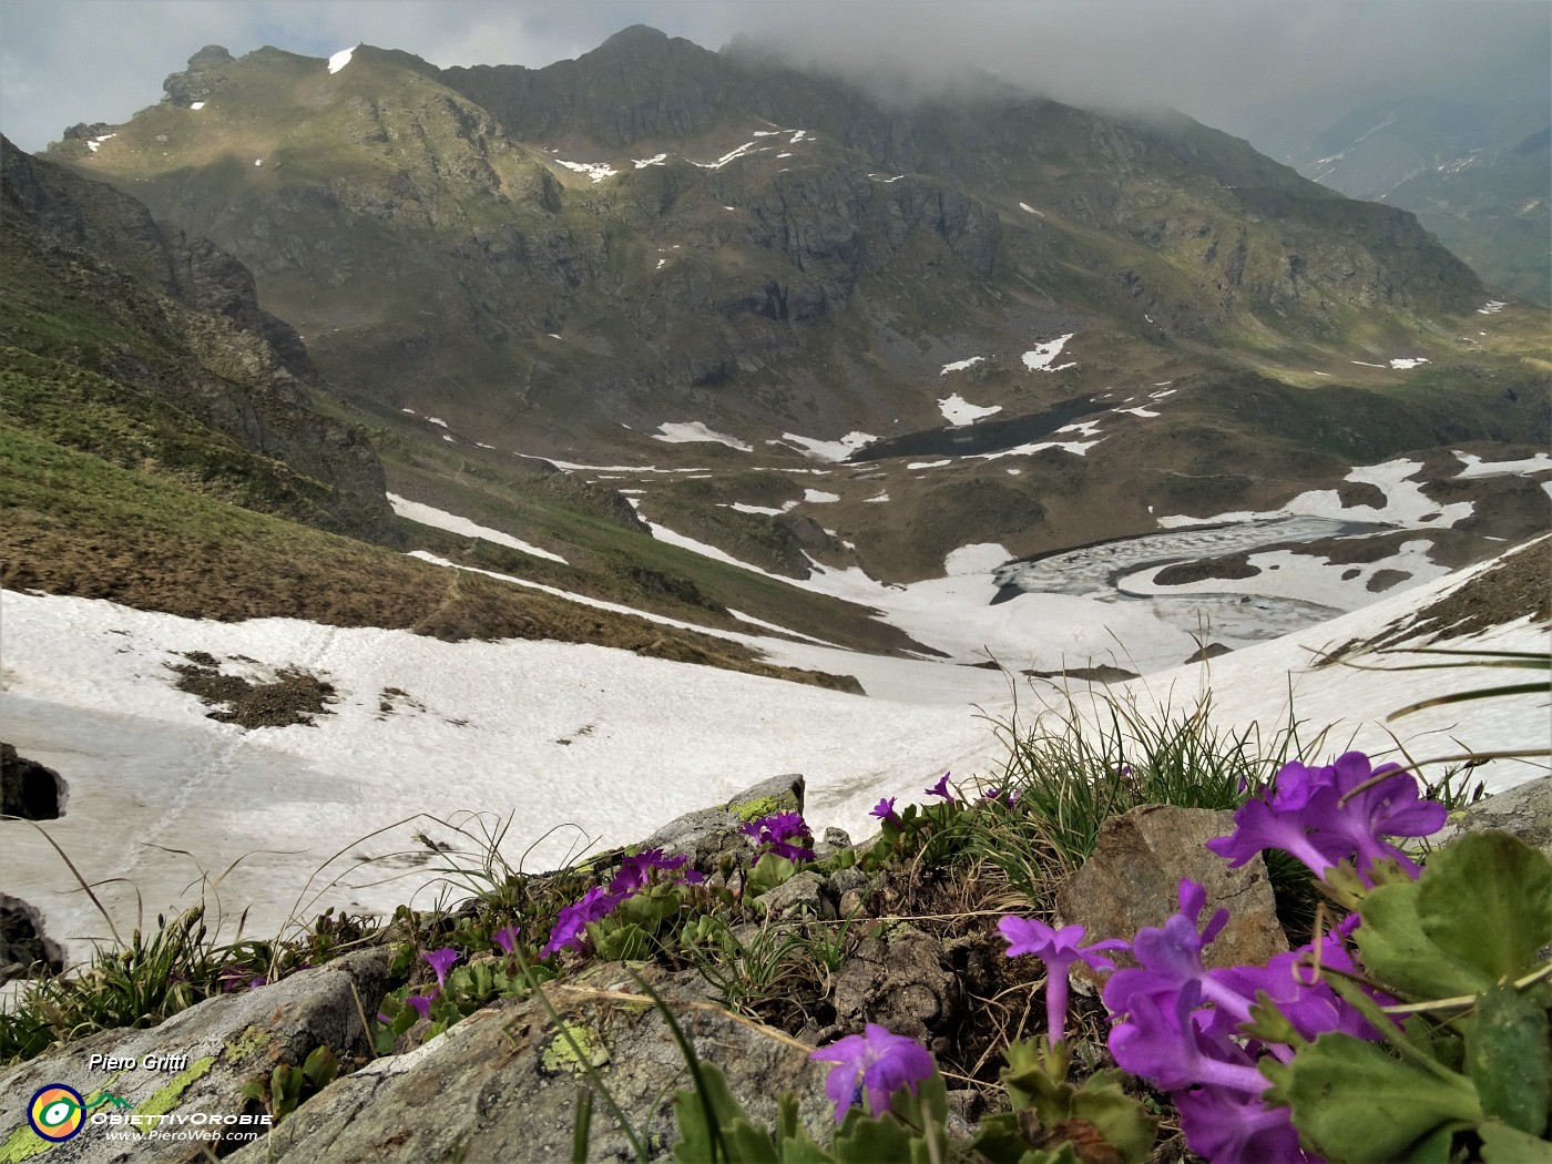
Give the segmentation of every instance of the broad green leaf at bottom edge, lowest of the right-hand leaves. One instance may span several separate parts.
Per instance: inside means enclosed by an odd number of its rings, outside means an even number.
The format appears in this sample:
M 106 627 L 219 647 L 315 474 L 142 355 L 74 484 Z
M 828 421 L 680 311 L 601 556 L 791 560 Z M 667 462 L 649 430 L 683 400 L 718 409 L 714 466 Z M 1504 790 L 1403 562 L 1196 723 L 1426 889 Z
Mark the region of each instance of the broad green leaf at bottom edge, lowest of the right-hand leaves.
M 1482 1105 L 1464 1076 L 1440 1077 L 1378 1043 L 1327 1032 L 1290 1063 L 1266 1062 L 1266 1102 L 1293 1110 L 1316 1152 L 1350 1164 L 1392 1164 L 1453 1121 L 1476 1124 Z

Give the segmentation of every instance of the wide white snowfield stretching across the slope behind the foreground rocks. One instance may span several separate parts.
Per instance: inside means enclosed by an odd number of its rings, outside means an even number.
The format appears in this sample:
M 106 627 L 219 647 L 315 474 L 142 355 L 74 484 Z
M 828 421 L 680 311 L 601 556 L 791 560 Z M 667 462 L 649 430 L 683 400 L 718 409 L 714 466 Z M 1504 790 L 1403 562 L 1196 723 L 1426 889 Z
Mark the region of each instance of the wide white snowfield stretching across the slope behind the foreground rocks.
M 1543 697 L 1439 708 L 1387 729 L 1387 712 L 1459 688 L 1462 675 L 1308 669 L 1322 647 L 1369 635 L 1457 580 L 1110 694 L 1183 711 L 1211 688 L 1218 723 L 1259 723 L 1263 739 L 1287 725 L 1291 695 L 1307 739 L 1335 725 L 1322 756 L 1397 740 L 1419 760 L 1546 747 Z M 872 694 L 604 647 L 205 622 L 73 598 L 6 593 L 0 619 L 5 737 L 68 784 L 64 816 L 43 827 L 98 883 L 121 928 L 135 923 L 137 902 L 149 919 L 202 891 L 228 919 L 248 909 L 247 933 L 258 936 L 327 905 L 431 905 L 447 888 L 436 872 L 445 858 L 416 833 L 472 850 L 449 824 L 475 838 L 506 826 L 504 857 L 539 871 L 788 771 L 809 781 L 816 829 L 861 838 L 880 796 L 916 799 L 948 770 L 995 779 L 1003 753 L 986 715 L 1013 709 L 999 672 L 776 638 L 754 639 L 771 661 L 854 674 Z M 1468 646 L 1546 650 L 1547 632 L 1519 622 Z M 335 702 L 315 726 L 217 723 L 174 686 L 168 664 L 188 652 L 255 678 L 303 667 L 334 684 Z M 1041 702 L 1058 703 L 1054 688 L 1035 688 L 1018 694 L 1026 719 Z M 1499 760 L 1478 774 L 1501 788 L 1540 771 Z M 3 892 L 37 908 L 48 936 L 84 956 L 87 939 L 106 934 L 101 917 L 37 830 L 3 827 Z

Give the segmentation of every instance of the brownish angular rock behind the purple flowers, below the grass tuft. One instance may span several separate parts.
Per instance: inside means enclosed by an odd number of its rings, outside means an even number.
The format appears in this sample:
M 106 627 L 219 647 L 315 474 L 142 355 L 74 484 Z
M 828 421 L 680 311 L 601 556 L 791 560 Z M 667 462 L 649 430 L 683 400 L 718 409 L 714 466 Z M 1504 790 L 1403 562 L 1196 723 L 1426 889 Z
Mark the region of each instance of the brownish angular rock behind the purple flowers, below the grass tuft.
M 1145 804 L 1113 816 L 1099 829 L 1094 855 L 1057 891 L 1057 913 L 1065 923 L 1086 927 L 1086 942 L 1130 939 L 1176 913 L 1180 882 L 1189 877 L 1207 891 L 1207 916 L 1220 906 L 1229 911 L 1228 925 L 1206 950 L 1206 964 L 1265 965 L 1288 948 L 1265 861 L 1256 857 L 1229 869 L 1206 849 L 1209 840 L 1232 829 L 1232 813 L 1209 809 Z M 1127 958 L 1116 961 L 1119 965 Z M 1082 964 L 1074 973 L 1091 978 Z

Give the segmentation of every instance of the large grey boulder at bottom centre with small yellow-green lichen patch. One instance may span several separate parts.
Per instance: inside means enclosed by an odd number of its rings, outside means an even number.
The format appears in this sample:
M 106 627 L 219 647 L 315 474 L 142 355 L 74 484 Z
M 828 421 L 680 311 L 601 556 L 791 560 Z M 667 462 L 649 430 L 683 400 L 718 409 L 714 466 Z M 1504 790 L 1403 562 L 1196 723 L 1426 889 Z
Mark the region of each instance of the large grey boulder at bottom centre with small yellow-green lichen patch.
M 770 1127 L 776 1097 L 793 1091 L 815 1135 L 833 1127 L 824 1069 L 810 1063 L 804 1049 L 708 1006 L 694 973 L 646 973 L 697 1054 L 728 1074 L 733 1094 L 756 1124 Z M 661 1013 L 608 996 L 641 995 L 618 964 L 596 967 L 574 987 L 551 984 L 546 990 L 613 1100 L 635 1121 L 649 1156 L 666 1158 L 677 1139 L 669 1102 L 677 1088 L 689 1085 L 689 1072 Z M 267 1142 L 231 1159 L 549 1164 L 570 1159 L 577 1088 L 585 1082 L 576 1054 L 542 1004 L 508 998 L 408 1054 L 379 1058 L 338 1080 L 279 1124 Z M 632 1158 L 602 1097 L 594 1099 L 593 1113 L 588 1159 Z

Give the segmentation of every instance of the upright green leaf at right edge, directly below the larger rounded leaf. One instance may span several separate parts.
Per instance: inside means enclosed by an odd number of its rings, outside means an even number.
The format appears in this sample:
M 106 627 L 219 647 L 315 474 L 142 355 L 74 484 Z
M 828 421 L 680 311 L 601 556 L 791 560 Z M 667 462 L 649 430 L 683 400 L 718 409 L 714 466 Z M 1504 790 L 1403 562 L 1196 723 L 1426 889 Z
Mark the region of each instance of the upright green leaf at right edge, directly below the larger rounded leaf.
M 1467 1034 L 1467 1066 L 1484 1113 L 1532 1136 L 1546 1131 L 1552 1043 L 1543 1007 L 1512 986 L 1478 998 Z

